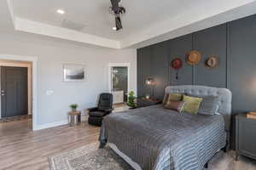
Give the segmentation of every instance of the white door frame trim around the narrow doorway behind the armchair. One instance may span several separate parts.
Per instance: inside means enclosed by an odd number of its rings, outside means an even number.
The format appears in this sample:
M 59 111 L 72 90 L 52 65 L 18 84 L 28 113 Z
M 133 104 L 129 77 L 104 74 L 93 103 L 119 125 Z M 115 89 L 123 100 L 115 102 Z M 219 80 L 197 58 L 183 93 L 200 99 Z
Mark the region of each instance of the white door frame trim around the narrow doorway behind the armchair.
M 112 93 L 112 85 L 111 85 L 111 68 L 114 66 L 127 67 L 127 93 L 130 92 L 130 63 L 108 63 L 108 92 Z

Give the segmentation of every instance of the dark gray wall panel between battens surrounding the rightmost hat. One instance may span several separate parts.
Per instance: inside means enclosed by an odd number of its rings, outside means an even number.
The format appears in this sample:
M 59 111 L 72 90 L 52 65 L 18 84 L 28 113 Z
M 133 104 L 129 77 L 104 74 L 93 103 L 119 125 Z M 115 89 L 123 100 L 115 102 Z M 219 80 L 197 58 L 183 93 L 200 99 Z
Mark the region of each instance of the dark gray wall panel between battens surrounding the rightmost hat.
M 226 87 L 226 25 L 216 26 L 194 34 L 194 48 L 201 52 L 201 63 L 195 65 L 195 84 L 218 88 Z M 215 55 L 219 59 L 216 69 L 205 67 L 206 59 Z

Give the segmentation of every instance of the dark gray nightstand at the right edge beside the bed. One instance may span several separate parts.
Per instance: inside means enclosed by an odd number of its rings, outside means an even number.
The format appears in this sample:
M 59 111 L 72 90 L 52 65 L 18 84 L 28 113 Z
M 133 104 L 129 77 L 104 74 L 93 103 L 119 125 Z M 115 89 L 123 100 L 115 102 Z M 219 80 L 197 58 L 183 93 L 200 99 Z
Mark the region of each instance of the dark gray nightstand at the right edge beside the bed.
M 239 156 L 256 159 L 256 119 L 236 116 L 236 161 Z

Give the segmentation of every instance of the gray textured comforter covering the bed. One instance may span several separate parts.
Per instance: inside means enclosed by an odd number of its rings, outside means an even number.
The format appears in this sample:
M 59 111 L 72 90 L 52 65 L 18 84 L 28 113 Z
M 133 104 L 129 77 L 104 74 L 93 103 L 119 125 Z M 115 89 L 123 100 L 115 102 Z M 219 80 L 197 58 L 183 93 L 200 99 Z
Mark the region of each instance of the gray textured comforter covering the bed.
M 197 170 L 224 147 L 226 133 L 223 116 L 154 105 L 106 116 L 100 140 L 116 144 L 143 170 Z

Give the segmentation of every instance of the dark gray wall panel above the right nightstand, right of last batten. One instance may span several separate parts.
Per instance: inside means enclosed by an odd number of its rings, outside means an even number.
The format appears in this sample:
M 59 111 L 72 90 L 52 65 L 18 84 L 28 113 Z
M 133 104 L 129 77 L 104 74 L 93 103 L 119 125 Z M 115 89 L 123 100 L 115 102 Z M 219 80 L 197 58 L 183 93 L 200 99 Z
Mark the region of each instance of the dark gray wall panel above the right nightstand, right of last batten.
M 256 16 L 230 23 L 233 111 L 256 111 Z

